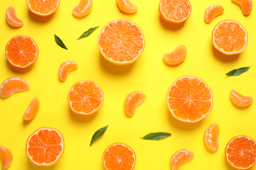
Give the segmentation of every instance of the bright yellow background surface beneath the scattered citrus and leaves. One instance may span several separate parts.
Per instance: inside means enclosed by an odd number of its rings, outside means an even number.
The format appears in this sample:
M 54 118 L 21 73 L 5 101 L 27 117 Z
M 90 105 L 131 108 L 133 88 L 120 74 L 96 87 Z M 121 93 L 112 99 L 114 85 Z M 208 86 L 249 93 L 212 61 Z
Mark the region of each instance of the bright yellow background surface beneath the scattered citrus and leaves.
M 238 109 L 229 99 L 230 90 L 256 97 L 255 93 L 255 18 L 253 9 L 244 16 L 240 7 L 231 0 L 190 0 L 192 13 L 181 25 L 167 24 L 158 12 L 159 0 L 132 1 L 139 8 L 133 15 L 119 11 L 115 0 L 94 0 L 93 10 L 85 18 L 75 18 L 72 9 L 78 0 L 61 0 L 55 14 L 40 18 L 29 12 L 26 0 L 1 1 L 0 5 L 0 82 L 10 76 L 20 76 L 30 83 L 30 90 L 0 99 L 0 145 L 11 149 L 14 156 L 11 169 L 104 169 L 102 153 L 112 143 L 125 143 L 135 150 L 138 169 L 170 169 L 169 161 L 177 150 L 186 148 L 194 152 L 194 160 L 181 169 L 232 169 L 224 158 L 224 148 L 236 135 L 256 139 L 255 103 Z M 222 5 L 224 14 L 205 24 L 203 14 L 210 5 Z M 7 7 L 13 6 L 24 26 L 9 27 L 5 21 Z M 120 18 L 139 25 L 146 46 L 133 65 L 116 66 L 102 58 L 97 46 L 98 35 L 105 24 Z M 238 20 L 249 35 L 247 48 L 240 55 L 224 56 L 213 49 L 211 31 L 221 20 Z M 76 39 L 90 27 L 100 26 L 89 37 Z M 66 44 L 64 50 L 54 42 L 54 34 Z M 30 69 L 20 71 L 9 65 L 5 58 L 5 45 L 16 35 L 28 35 L 39 47 L 39 56 Z M 162 56 L 179 44 L 188 48 L 186 59 L 177 67 L 163 63 Z M 66 60 L 78 63 L 65 82 L 58 80 L 58 67 Z M 250 66 L 240 76 L 225 76 L 228 71 Z M 169 114 L 166 94 L 169 86 L 180 76 L 202 78 L 213 92 L 213 109 L 201 122 L 184 124 Z M 75 82 L 94 80 L 104 91 L 104 104 L 92 116 L 73 113 L 68 105 L 68 91 Z M 125 115 L 125 96 L 141 90 L 147 97 L 132 118 Z M 33 97 L 38 97 L 37 116 L 24 123 L 22 115 Z M 203 143 L 205 129 L 218 123 L 219 150 L 209 152 Z M 96 130 L 108 126 L 106 133 L 90 147 Z M 54 167 L 36 167 L 25 152 L 28 136 L 39 127 L 54 127 L 62 132 L 65 150 Z M 161 141 L 144 141 L 140 137 L 165 131 L 171 137 Z M 252 168 L 252 169 L 255 169 Z

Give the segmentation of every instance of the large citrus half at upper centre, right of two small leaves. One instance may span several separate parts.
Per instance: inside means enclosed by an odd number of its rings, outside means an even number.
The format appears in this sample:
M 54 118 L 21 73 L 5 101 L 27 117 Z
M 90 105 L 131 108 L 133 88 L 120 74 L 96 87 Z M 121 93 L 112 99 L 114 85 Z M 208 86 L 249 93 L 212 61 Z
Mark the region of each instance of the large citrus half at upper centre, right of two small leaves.
M 142 30 L 129 20 L 115 20 L 106 24 L 98 36 L 102 56 L 116 65 L 134 63 L 144 46 Z

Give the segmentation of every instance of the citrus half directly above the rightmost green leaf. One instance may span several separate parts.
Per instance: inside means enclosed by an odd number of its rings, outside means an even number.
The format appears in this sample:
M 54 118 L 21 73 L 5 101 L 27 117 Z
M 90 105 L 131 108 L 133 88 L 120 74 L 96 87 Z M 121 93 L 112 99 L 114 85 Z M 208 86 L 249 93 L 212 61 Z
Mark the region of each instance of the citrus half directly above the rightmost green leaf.
M 211 38 L 213 46 L 226 55 L 240 54 L 248 42 L 247 31 L 234 20 L 219 22 L 213 29 Z

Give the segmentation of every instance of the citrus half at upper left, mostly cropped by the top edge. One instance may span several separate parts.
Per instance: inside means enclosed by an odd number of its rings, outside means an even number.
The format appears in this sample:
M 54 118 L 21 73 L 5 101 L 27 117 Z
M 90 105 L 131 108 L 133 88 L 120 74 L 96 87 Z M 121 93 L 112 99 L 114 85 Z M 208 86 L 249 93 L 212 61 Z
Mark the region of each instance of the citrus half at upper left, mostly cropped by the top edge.
M 53 14 L 60 5 L 60 0 L 27 0 L 28 9 L 39 16 Z

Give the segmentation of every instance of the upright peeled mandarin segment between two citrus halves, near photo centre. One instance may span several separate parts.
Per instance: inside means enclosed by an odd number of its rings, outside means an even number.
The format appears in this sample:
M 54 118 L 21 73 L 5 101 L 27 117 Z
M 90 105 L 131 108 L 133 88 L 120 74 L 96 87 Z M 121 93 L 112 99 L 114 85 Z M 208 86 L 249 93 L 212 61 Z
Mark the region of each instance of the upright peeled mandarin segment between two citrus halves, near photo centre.
M 140 91 L 129 93 L 125 98 L 125 113 L 133 116 L 137 107 L 146 99 L 146 94 Z

